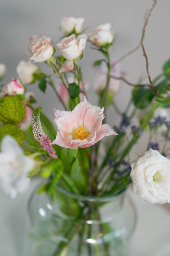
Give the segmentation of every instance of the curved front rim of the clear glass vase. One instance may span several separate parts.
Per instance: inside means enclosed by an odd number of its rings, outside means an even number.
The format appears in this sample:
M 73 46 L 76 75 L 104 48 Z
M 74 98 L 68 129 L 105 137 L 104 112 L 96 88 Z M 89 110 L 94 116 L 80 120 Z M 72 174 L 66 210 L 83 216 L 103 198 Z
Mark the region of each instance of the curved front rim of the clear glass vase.
M 69 197 L 80 199 L 82 201 L 89 201 L 89 202 L 111 201 L 113 199 L 118 198 L 118 196 L 120 196 L 121 194 L 123 194 L 123 192 L 126 191 L 126 188 L 125 188 L 125 189 L 119 190 L 117 193 L 107 194 L 105 196 L 94 196 L 94 195 L 93 196 L 84 196 L 82 194 L 76 194 L 74 192 L 71 192 L 58 184 L 56 184 L 55 187 L 58 191 L 62 192 L 63 194 L 65 194 Z

